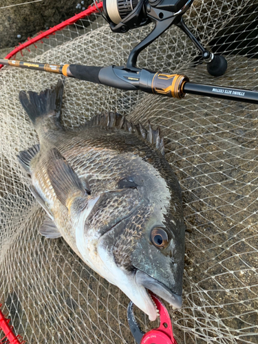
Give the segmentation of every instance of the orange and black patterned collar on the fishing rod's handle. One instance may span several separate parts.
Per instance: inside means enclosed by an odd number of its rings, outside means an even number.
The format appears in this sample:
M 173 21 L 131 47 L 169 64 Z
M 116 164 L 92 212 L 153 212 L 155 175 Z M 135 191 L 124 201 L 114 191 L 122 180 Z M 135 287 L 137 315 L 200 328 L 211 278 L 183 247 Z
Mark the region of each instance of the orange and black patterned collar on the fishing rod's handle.
M 153 76 L 151 89 L 154 94 L 180 99 L 186 95 L 183 88 L 188 81 L 185 75 L 158 72 Z

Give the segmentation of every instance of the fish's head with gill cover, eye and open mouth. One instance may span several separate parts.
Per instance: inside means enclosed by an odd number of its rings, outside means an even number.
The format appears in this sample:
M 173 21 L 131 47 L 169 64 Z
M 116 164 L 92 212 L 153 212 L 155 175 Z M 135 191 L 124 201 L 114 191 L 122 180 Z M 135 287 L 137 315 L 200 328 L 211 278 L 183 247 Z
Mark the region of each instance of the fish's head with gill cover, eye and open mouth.
M 147 290 L 175 308 L 182 305 L 185 228 L 181 200 L 171 197 L 160 206 L 161 199 L 149 198 L 100 238 L 98 254 L 108 280 L 154 321 L 157 312 Z

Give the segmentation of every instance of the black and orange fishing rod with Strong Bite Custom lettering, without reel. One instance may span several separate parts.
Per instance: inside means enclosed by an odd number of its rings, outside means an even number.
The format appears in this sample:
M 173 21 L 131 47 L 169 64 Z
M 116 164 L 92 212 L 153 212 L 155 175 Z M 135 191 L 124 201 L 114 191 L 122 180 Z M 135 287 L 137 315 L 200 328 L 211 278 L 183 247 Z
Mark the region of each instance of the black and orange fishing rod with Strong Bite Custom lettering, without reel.
M 147 69 L 127 67 L 96 67 L 87 65 L 52 65 L 48 63 L 25 62 L 0 58 L 0 63 L 12 67 L 34 69 L 70 78 L 89 81 L 125 90 L 138 90 L 160 96 L 184 98 L 186 94 L 210 96 L 246 103 L 258 104 L 258 92 L 234 87 L 191 83 L 189 78 L 180 74 L 151 72 Z

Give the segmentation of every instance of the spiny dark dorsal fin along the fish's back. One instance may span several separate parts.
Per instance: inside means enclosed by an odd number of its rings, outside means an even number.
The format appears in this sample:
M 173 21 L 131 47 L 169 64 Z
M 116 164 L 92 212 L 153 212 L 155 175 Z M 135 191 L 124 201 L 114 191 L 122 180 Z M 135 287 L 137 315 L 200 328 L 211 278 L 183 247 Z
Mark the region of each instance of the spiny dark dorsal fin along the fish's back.
M 108 112 L 107 114 L 100 114 L 94 116 L 91 120 L 85 123 L 85 127 L 108 127 L 108 128 L 118 128 L 130 133 L 135 133 L 138 136 L 142 136 L 145 140 L 153 144 L 153 146 L 164 155 L 164 138 L 160 134 L 160 128 L 153 129 L 151 123 L 149 122 L 149 128 L 145 129 L 141 123 L 134 125 L 129 122 L 125 116 L 116 114 L 114 112 Z

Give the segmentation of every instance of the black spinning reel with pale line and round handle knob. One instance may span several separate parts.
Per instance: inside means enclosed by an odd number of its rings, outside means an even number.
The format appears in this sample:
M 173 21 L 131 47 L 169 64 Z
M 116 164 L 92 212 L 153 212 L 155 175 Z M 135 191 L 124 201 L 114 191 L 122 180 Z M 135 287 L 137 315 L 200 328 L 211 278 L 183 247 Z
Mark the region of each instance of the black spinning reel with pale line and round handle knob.
M 140 52 L 174 24 L 189 36 L 200 50 L 204 62 L 207 63 L 208 73 L 222 76 L 228 66 L 226 59 L 206 50 L 184 23 L 182 15 L 192 3 L 193 0 L 103 0 L 103 11 L 100 14 L 113 32 L 124 33 L 151 22 L 155 23 L 153 31 L 131 51 L 127 68 L 135 68 Z

